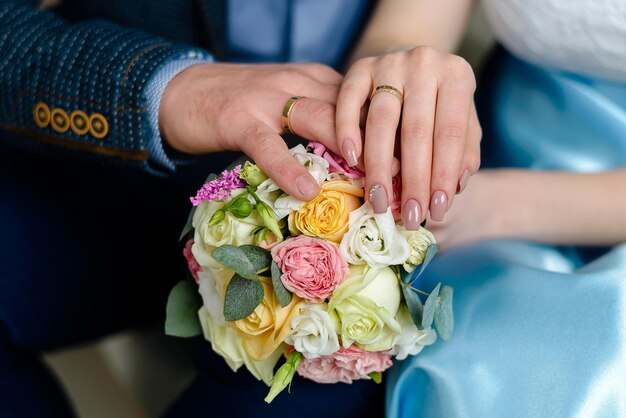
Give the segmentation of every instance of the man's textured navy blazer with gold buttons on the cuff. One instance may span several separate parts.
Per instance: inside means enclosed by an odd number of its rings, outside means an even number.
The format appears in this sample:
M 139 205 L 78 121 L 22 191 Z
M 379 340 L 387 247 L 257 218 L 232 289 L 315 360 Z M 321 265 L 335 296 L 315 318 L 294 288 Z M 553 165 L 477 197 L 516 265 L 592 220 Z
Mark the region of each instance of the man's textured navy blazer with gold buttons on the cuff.
M 0 152 L 67 149 L 162 171 L 146 85 L 163 65 L 225 45 L 225 0 L 0 0 Z

